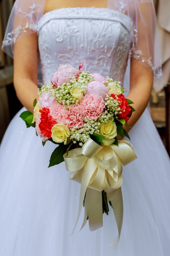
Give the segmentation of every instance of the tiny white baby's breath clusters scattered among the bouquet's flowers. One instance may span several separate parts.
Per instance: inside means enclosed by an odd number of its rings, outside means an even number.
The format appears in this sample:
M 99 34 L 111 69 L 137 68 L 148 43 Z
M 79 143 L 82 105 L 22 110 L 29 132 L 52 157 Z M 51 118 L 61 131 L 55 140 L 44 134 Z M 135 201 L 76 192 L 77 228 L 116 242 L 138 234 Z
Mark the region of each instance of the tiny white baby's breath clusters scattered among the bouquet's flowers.
M 113 81 L 112 78 L 106 76 L 108 90 L 113 86 L 116 86 L 121 92 L 120 82 Z M 70 105 L 79 103 L 79 100 L 72 96 L 71 89 L 73 87 L 80 88 L 83 95 L 86 94 L 87 84 L 93 81 L 94 78 L 89 74 L 89 72 L 79 72 L 79 74 L 73 77 L 69 83 L 63 83 L 58 87 L 54 86 L 52 83 L 45 83 L 39 90 L 38 94 L 41 96 L 42 93 L 46 93 L 51 97 L 54 97 L 56 101 L 67 108 Z M 83 127 L 75 126 L 69 132 L 69 139 L 73 141 L 74 144 L 82 146 L 94 133 L 99 133 L 99 128 L 103 123 L 107 123 L 109 120 L 113 121 L 114 117 L 120 112 L 118 97 L 110 97 L 106 94 L 105 109 L 97 119 L 89 120 L 87 117 L 84 118 Z

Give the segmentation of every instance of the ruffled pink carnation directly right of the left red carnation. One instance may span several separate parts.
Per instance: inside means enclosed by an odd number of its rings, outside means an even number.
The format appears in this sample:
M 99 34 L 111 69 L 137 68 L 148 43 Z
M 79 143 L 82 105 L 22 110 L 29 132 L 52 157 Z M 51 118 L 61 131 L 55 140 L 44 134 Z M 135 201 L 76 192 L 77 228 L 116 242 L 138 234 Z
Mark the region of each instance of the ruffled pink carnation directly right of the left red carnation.
M 64 120 L 68 118 L 68 111 L 63 105 L 54 101 L 50 107 L 50 115 L 58 124 L 64 124 Z

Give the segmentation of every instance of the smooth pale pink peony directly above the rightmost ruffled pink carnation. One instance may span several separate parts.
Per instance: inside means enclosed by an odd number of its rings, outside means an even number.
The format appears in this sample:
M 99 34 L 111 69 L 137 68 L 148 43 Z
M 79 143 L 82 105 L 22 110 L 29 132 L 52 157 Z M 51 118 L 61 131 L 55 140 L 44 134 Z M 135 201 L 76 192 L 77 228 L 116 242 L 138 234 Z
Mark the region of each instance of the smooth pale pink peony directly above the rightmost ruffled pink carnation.
M 103 99 L 105 99 L 107 93 L 108 88 L 99 81 L 92 81 L 87 84 L 87 95 L 101 96 Z

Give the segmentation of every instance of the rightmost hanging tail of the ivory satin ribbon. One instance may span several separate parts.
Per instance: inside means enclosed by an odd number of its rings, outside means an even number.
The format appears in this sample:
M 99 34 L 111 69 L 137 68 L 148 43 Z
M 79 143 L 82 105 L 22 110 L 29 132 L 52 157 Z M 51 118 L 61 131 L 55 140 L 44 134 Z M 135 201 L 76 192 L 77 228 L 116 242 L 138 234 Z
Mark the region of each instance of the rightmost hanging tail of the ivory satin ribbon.
M 113 212 L 115 215 L 115 220 L 117 223 L 118 236 L 115 240 L 109 245 L 113 249 L 117 249 L 117 245 L 119 243 L 121 227 L 123 222 L 123 198 L 121 193 L 121 187 L 119 189 L 115 189 L 115 191 L 111 193 L 107 193 L 108 201 L 111 202 Z

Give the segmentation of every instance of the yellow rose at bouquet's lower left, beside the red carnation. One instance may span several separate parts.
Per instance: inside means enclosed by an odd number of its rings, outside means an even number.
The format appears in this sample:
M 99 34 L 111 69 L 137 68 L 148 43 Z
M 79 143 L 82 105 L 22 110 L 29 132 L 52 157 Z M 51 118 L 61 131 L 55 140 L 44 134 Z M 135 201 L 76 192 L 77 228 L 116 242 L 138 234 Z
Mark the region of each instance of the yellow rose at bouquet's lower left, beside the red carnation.
M 51 129 L 51 137 L 53 141 L 57 143 L 64 142 L 67 144 L 67 139 L 69 137 L 70 130 L 64 124 L 55 124 Z

